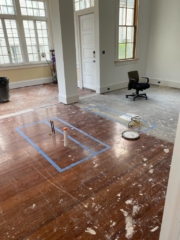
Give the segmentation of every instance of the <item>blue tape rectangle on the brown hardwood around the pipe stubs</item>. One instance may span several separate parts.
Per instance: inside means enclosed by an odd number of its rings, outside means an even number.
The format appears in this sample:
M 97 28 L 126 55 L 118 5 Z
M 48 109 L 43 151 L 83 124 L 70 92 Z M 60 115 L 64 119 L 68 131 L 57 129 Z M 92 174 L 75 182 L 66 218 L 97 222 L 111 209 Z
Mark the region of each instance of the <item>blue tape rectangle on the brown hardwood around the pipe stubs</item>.
M 49 125 L 49 126 L 50 126 L 50 124 L 49 124 L 49 122 L 48 122 L 49 119 L 45 119 L 45 120 L 42 120 L 42 121 L 38 121 L 38 122 L 26 124 L 26 125 L 23 125 L 23 126 L 20 126 L 20 127 L 16 128 L 16 131 L 17 131 L 29 144 L 31 144 L 31 146 L 33 146 L 33 147 L 38 151 L 38 153 L 40 153 L 58 172 L 62 173 L 62 172 L 64 172 L 64 171 L 66 171 L 66 170 L 68 170 L 68 169 L 70 169 L 70 168 L 72 168 L 72 167 L 74 167 L 74 166 L 76 166 L 76 165 L 78 165 L 78 164 L 80 164 L 80 163 L 82 163 L 82 162 L 85 162 L 85 161 L 87 161 L 88 159 L 90 159 L 90 158 L 92 158 L 92 157 L 95 157 L 95 156 L 99 155 L 100 153 L 103 153 L 103 152 L 107 151 L 108 149 L 110 149 L 110 146 L 108 146 L 107 144 L 101 142 L 101 141 L 98 140 L 97 138 L 92 137 L 91 135 L 87 134 L 86 132 L 84 132 L 84 131 L 82 131 L 82 130 L 76 128 L 76 127 L 74 127 L 73 125 L 65 122 L 65 121 L 62 120 L 61 118 L 53 117 L 53 118 L 51 118 L 51 119 L 56 119 L 56 120 L 64 123 L 65 125 L 70 126 L 70 127 L 72 127 L 73 129 L 76 129 L 78 132 L 80 132 L 80 133 L 84 134 L 85 136 L 91 138 L 91 139 L 94 140 L 95 142 L 98 142 L 99 144 L 105 146 L 104 149 L 102 149 L 102 150 L 100 150 L 100 151 L 98 151 L 98 152 L 94 152 L 94 151 L 92 151 L 90 148 L 88 148 L 86 145 L 80 143 L 79 141 L 77 141 L 77 140 L 74 139 L 73 137 L 68 136 L 68 138 L 69 138 L 70 140 L 72 140 L 73 142 L 75 142 L 76 144 L 78 144 L 78 145 L 79 145 L 80 147 L 82 147 L 83 149 L 89 151 L 91 154 L 90 154 L 89 156 L 87 156 L 87 157 L 85 157 L 85 158 L 83 158 L 83 159 L 75 162 L 75 163 L 70 164 L 69 166 L 67 166 L 67 167 L 65 167 L 65 168 L 60 168 L 47 154 L 45 154 L 45 152 L 44 152 L 42 149 L 40 149 L 30 138 L 28 138 L 28 137 L 26 136 L 26 134 L 24 134 L 24 133 L 20 130 L 20 129 L 22 129 L 22 128 L 29 127 L 29 126 L 33 126 L 33 125 L 36 125 L 36 124 L 42 123 L 42 122 L 45 123 L 46 125 Z M 59 128 L 56 128 L 56 127 L 55 127 L 55 129 L 56 129 L 57 132 L 59 132 L 59 133 L 61 133 L 61 134 L 64 134 L 63 131 L 60 130 Z

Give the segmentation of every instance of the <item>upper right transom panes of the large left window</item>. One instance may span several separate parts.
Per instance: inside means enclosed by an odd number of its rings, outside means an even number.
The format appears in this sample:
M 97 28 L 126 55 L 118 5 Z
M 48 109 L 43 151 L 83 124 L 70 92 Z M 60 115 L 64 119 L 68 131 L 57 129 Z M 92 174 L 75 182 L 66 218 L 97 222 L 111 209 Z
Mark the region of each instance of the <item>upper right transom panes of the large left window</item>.
M 45 5 L 42 1 L 20 0 L 21 14 L 25 16 L 45 17 Z

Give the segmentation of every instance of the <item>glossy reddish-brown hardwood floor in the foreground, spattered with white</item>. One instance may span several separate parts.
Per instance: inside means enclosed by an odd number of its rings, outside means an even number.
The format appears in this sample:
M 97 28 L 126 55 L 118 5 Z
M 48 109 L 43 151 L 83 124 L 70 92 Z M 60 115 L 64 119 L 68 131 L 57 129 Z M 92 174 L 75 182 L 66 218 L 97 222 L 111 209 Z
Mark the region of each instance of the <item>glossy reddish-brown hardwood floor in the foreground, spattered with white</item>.
M 50 134 L 55 116 L 77 142 Z M 158 240 L 173 144 L 125 129 L 63 104 L 0 120 L 0 239 Z

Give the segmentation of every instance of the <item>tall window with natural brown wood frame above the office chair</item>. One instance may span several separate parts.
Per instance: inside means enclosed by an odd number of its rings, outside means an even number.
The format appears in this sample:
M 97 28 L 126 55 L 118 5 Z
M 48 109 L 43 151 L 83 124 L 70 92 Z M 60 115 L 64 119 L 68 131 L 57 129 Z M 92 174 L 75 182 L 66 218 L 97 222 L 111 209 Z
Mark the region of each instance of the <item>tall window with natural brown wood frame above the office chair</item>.
M 135 58 L 137 1 L 138 0 L 119 1 L 119 60 L 130 60 Z

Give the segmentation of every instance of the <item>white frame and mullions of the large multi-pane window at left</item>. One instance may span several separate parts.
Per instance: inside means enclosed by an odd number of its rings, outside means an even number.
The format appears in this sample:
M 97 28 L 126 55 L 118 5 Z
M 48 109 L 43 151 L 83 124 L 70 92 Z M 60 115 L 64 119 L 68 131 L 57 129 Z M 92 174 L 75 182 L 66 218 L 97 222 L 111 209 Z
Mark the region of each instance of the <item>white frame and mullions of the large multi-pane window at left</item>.
M 50 27 L 51 26 L 50 7 L 49 7 L 48 0 L 39 0 L 39 1 L 44 2 L 44 4 L 45 4 L 45 12 L 46 12 L 45 17 L 22 15 L 19 0 L 12 0 L 12 1 L 13 1 L 13 4 L 14 4 L 15 15 L 0 14 L 0 19 L 2 20 L 2 22 L 4 22 L 5 19 L 10 19 L 10 20 L 15 20 L 16 21 L 17 29 L 18 29 L 18 35 L 19 35 L 19 38 L 20 38 L 20 47 L 21 47 L 23 62 L 22 63 L 12 63 L 12 62 L 10 62 L 9 64 L 3 64 L 3 65 L 0 65 L 0 69 L 1 70 L 7 70 L 7 69 L 15 69 L 15 68 L 28 68 L 28 67 L 46 66 L 47 65 L 46 60 L 29 62 L 27 45 L 26 45 L 26 38 L 25 38 L 25 31 L 24 31 L 24 26 L 23 26 L 23 20 L 32 20 L 32 21 L 34 21 L 35 24 L 36 24 L 36 21 L 45 21 L 46 24 L 47 24 L 49 49 L 53 49 L 52 29 Z M 33 1 L 38 1 L 38 0 L 33 0 Z M 4 35 L 5 35 L 5 41 L 6 41 L 7 49 L 8 49 L 8 52 L 9 52 L 10 49 L 9 49 L 6 29 L 4 29 Z M 37 36 L 36 36 L 36 40 L 38 41 Z M 9 59 L 11 59 L 11 54 L 10 53 L 9 53 Z

